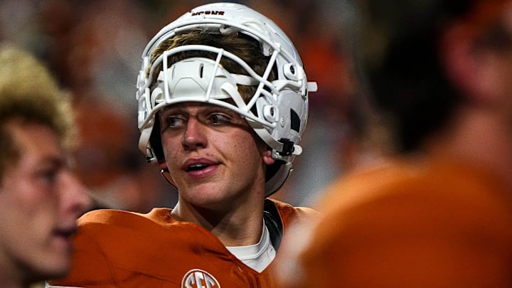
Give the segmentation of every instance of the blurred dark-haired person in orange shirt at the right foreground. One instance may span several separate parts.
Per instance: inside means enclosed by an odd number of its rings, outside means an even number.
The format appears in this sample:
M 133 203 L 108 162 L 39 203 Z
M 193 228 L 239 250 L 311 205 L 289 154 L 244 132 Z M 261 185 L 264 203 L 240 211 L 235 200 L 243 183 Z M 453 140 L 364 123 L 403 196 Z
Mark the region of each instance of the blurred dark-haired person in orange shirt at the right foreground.
M 326 191 L 281 286 L 512 287 L 512 1 L 364 4 L 398 154 Z

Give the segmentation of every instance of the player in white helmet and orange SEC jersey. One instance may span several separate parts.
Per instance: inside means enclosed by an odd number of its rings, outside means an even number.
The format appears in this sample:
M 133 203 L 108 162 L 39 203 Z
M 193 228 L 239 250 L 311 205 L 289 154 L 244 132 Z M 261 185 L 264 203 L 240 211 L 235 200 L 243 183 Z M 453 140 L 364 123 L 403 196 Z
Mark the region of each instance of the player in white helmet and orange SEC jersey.
M 267 198 L 289 176 L 308 112 L 302 61 L 269 18 L 240 4 L 199 6 L 144 49 L 139 148 L 178 190 L 174 208 L 80 218 L 73 271 L 85 287 L 275 287 L 292 220 Z M 169 187 L 171 188 L 171 187 Z

